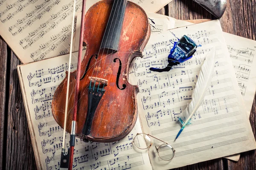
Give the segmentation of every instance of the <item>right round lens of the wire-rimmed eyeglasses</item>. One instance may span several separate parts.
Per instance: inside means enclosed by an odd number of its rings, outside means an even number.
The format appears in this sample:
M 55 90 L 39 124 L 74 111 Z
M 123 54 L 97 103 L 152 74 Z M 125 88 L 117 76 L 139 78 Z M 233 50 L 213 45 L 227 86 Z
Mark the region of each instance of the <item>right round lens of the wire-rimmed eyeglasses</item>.
M 164 161 L 169 161 L 173 159 L 174 153 L 175 153 L 174 148 L 169 144 L 162 144 L 158 148 L 158 155 Z

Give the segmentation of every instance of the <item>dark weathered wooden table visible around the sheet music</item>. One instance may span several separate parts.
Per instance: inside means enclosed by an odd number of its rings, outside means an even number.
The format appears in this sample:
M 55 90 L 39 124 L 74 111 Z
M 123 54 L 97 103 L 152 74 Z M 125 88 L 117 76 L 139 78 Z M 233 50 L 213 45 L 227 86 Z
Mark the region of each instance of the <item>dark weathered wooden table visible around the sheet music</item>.
M 223 31 L 256 40 L 256 0 L 228 0 L 220 19 Z M 158 13 L 180 20 L 215 19 L 192 0 L 173 0 Z M 35 157 L 16 67 L 19 59 L 0 38 L 0 170 L 35 170 Z M 256 136 L 256 102 L 250 123 Z M 224 158 L 181 167 L 182 170 L 256 170 L 256 151 L 241 153 L 238 162 Z

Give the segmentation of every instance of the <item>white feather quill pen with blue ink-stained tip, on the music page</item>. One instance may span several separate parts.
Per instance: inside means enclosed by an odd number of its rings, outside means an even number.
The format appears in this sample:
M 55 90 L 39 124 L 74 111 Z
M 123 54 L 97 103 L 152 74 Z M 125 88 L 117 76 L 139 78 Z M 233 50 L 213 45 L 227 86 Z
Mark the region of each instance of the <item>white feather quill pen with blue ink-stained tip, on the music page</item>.
M 190 122 L 192 116 L 195 114 L 195 111 L 201 105 L 206 91 L 211 83 L 212 74 L 215 66 L 215 48 L 213 47 L 209 54 L 207 55 L 204 64 L 202 65 L 200 74 L 198 76 L 198 81 L 195 86 L 195 90 L 192 94 L 192 101 L 186 107 L 186 109 L 180 113 L 179 120 L 183 125 L 177 134 L 175 140 L 179 137 L 180 133 L 184 127 Z

